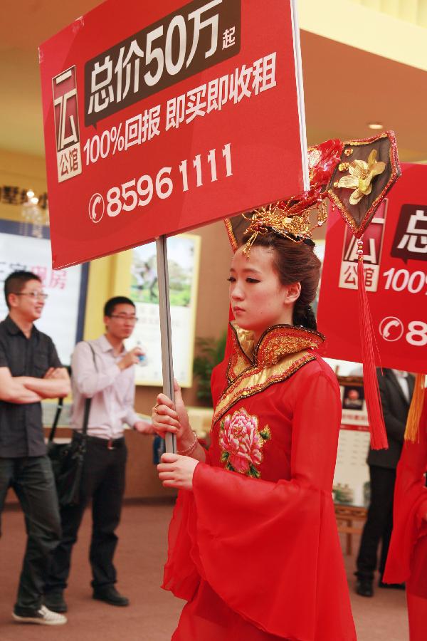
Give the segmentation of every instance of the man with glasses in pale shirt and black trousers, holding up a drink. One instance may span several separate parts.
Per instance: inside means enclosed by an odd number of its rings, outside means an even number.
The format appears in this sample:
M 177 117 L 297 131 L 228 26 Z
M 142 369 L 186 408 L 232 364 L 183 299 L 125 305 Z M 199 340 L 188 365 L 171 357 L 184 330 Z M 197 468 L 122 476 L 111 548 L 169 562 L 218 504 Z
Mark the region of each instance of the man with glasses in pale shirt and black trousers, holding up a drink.
M 123 430 L 127 424 L 141 434 L 154 434 L 152 424 L 141 420 L 133 409 L 133 365 L 138 363 L 142 350 L 137 347 L 127 352 L 123 341 L 130 337 L 136 322 L 135 305 L 130 298 L 110 298 L 104 306 L 105 334 L 90 344 L 78 343 L 73 353 L 73 438 L 81 438 L 85 399 L 91 398 L 92 403 L 80 501 L 77 506 L 61 509 L 63 539 L 53 552 L 46 583 L 45 604 L 57 613 L 68 609 L 63 590 L 70 573 L 71 551 L 90 500 L 93 598 L 110 605 L 129 605 L 129 600 L 115 588 L 116 570 L 112 562 L 125 491 L 127 450 Z

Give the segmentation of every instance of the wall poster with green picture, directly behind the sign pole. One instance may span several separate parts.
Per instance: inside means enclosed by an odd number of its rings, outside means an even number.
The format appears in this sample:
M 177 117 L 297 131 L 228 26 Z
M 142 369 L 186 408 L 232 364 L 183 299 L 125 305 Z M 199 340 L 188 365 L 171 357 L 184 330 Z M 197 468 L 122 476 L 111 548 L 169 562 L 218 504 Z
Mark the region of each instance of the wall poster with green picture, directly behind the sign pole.
M 193 380 L 200 241 L 200 236 L 193 234 L 167 239 L 174 376 L 182 387 L 191 387 Z M 127 348 L 140 345 L 145 353 L 144 360 L 135 368 L 135 382 L 137 385 L 162 385 L 155 243 L 132 249 L 131 269 L 130 298 L 137 308 L 138 320 Z

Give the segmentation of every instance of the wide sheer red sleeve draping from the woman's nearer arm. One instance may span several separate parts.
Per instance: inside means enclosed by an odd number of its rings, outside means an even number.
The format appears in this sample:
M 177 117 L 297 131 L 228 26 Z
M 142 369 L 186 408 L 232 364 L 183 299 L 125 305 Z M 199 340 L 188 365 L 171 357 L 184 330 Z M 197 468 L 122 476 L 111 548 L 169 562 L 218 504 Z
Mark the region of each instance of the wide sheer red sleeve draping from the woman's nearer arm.
M 199 464 L 193 494 L 181 494 L 174 514 L 189 553 L 186 561 L 169 553 L 164 587 L 183 595 L 184 578 L 195 578 L 193 563 L 260 630 L 292 641 L 355 640 L 331 494 L 340 412 L 332 377 L 305 377 L 289 481 Z

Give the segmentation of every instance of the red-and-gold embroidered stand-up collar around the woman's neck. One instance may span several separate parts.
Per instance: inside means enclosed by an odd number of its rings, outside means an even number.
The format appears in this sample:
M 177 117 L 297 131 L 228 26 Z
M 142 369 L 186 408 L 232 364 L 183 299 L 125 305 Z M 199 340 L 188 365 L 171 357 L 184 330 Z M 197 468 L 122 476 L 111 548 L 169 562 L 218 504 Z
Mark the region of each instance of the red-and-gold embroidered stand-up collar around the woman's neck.
M 233 336 L 233 355 L 228 365 L 229 382 L 247 368 L 267 368 L 283 358 L 318 348 L 325 336 L 315 330 L 297 325 L 273 325 L 260 336 L 254 345 L 253 332 L 240 328 L 235 321 L 230 323 Z

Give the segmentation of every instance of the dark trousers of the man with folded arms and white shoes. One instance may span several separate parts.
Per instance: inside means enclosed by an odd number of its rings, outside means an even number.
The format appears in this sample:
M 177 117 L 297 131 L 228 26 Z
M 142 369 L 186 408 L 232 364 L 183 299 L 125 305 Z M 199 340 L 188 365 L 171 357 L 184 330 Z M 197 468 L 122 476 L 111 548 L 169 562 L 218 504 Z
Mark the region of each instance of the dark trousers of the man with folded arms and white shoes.
M 60 541 L 58 498 L 48 457 L 0 458 L 0 512 L 9 487 L 21 504 L 28 536 L 16 607 L 32 612 L 41 607 L 49 556 Z

